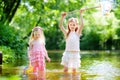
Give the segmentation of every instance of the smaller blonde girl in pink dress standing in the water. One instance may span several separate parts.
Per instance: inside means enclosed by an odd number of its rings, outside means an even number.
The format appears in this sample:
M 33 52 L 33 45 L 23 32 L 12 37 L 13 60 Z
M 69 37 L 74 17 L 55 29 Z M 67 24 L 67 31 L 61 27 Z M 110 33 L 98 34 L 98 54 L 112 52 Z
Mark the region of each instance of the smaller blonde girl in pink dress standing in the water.
M 45 80 L 45 58 L 50 62 L 46 48 L 45 37 L 41 27 L 32 30 L 29 40 L 28 57 L 34 72 L 38 74 L 39 80 Z

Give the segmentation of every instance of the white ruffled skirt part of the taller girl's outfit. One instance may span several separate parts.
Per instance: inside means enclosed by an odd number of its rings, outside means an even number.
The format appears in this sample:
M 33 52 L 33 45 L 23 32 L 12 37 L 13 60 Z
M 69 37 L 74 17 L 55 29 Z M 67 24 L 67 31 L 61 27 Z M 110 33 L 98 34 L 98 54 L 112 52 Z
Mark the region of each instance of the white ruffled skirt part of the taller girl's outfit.
M 62 56 L 61 65 L 68 68 L 79 68 L 81 65 L 79 52 L 64 52 Z

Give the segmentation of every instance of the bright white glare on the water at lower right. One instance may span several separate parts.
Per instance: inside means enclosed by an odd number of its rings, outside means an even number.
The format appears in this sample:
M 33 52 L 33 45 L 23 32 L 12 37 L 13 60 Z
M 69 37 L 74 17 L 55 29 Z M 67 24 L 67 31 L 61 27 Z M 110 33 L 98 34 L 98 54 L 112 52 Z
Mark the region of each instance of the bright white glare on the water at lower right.
M 92 80 L 116 80 L 115 77 L 120 76 L 120 69 L 112 66 L 109 61 L 94 61 L 87 73 L 97 75 Z

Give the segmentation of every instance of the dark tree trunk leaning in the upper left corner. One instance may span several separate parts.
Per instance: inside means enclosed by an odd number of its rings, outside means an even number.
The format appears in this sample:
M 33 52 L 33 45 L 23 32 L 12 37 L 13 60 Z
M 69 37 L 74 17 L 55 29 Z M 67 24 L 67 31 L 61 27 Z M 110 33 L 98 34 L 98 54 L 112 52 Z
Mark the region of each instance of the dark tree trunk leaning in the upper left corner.
M 1 22 L 3 24 L 9 24 L 14 17 L 14 14 L 20 5 L 20 0 L 2 0 L 3 6 L 3 14 L 1 17 Z

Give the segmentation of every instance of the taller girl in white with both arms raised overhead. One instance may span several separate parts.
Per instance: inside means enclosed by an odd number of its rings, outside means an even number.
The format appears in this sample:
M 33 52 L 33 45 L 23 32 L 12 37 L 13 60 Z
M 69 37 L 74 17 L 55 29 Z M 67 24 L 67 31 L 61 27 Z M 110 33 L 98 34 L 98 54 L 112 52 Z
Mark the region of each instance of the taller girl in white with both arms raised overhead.
M 67 15 L 66 12 L 62 13 L 60 20 L 60 29 L 63 32 L 66 39 L 66 47 L 62 56 L 61 64 L 64 65 L 64 72 L 68 72 L 68 68 L 72 68 L 72 72 L 75 73 L 76 69 L 80 67 L 80 34 L 83 29 L 83 10 L 80 10 L 81 25 L 79 27 L 77 18 L 70 18 L 68 20 L 68 30 L 63 27 L 64 17 Z

